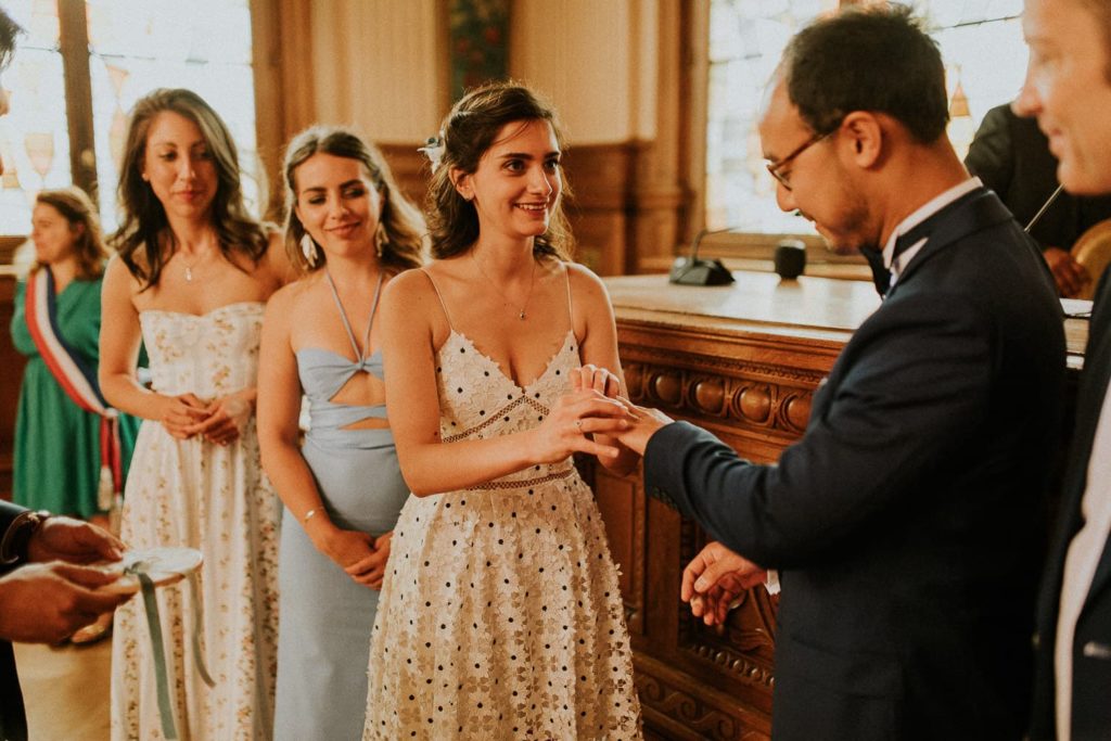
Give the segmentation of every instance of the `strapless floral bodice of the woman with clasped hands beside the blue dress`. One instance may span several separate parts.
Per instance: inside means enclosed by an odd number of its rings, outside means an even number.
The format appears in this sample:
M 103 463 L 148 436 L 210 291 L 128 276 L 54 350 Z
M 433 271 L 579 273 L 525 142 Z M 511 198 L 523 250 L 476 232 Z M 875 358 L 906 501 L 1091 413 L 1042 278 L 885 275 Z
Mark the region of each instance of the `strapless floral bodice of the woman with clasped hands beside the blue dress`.
M 199 316 L 140 312 L 153 390 L 210 400 L 254 385 L 264 309 L 262 302 L 241 301 Z

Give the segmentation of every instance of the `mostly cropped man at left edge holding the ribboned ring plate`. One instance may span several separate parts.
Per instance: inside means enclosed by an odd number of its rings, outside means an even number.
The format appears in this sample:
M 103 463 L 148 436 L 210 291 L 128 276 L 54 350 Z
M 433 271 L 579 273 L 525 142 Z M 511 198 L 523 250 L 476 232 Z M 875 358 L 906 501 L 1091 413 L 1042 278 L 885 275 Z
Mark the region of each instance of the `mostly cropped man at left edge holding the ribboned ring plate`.
M 0 8 L 0 70 L 19 30 Z M 0 100 L 0 116 L 7 104 Z M 27 739 L 10 641 L 58 642 L 113 610 L 127 598 L 94 590 L 114 577 L 77 564 L 119 560 L 121 549 L 117 539 L 86 522 L 0 501 L 0 741 Z

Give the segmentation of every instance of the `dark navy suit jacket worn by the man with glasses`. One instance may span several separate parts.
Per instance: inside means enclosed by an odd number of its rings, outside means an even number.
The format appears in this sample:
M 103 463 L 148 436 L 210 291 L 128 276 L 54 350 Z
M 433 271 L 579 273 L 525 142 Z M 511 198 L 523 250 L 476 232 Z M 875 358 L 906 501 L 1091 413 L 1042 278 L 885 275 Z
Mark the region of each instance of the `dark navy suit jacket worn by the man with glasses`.
M 773 738 L 1022 735 L 1063 382 L 1051 278 L 978 189 L 845 346 L 778 465 L 684 422 L 652 437 L 649 492 L 781 571 Z

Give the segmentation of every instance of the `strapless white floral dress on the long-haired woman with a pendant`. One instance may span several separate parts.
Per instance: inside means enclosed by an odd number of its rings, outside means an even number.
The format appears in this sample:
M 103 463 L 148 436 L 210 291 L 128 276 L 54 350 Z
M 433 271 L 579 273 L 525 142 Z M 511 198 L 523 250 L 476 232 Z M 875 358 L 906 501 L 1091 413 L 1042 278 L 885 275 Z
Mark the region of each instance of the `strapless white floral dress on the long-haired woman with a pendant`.
M 263 304 L 232 303 L 203 316 L 140 314 L 153 388 L 208 401 L 256 384 Z M 204 555 L 200 625 L 188 582 L 157 592 L 178 737 L 191 741 L 270 739 L 278 640 L 280 501 L 262 473 L 254 420 L 233 443 L 178 440 L 156 421 L 139 430 L 123 505 L 132 548 L 189 545 Z M 191 637 L 216 681 L 193 660 Z M 142 609 L 116 613 L 112 739 L 162 739 L 154 661 Z

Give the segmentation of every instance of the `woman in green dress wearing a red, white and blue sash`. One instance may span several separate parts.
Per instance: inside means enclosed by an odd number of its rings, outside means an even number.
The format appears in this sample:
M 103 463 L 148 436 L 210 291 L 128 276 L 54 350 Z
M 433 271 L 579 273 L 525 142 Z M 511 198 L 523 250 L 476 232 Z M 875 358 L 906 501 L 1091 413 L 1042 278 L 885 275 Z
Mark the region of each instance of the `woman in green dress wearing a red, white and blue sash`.
M 77 188 L 40 192 L 31 216 L 31 240 L 36 261 L 28 279 L 17 286 L 11 320 L 12 341 L 27 357 L 16 421 L 13 499 L 31 509 L 107 525 L 111 494 L 120 490 L 120 482 L 101 485 L 102 418 L 76 403 L 72 379 L 64 375 L 67 368 L 74 375 L 80 368 L 91 369 L 94 381 L 100 354 L 100 286 L 108 251 L 89 197 Z M 41 271 L 48 274 L 40 276 Z M 38 309 L 28 304 L 30 283 Z M 42 287 L 37 289 L 38 301 L 36 287 Z M 60 362 L 54 356 L 61 357 Z M 116 478 L 121 479 L 139 424 L 121 414 L 118 425 L 120 454 L 111 458 L 118 461 Z M 110 483 L 116 485 L 109 488 Z

